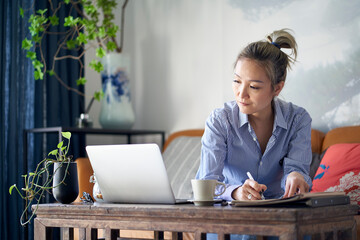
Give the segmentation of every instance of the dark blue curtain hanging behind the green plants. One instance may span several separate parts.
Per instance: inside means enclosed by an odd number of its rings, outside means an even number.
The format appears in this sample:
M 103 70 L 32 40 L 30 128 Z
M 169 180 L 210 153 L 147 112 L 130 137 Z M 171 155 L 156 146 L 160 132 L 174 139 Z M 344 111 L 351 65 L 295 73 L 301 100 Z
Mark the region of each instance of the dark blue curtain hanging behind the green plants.
M 47 4 L 48 1 L 38 1 Z M 21 49 L 25 37 L 30 38 L 28 19 L 34 9 L 45 7 L 34 0 L 0 1 L 0 239 L 33 239 L 33 224 L 27 228 L 20 225 L 19 218 L 24 207 L 22 199 L 9 187 L 16 183 L 23 186 L 24 161 L 27 171 L 33 171 L 49 150 L 56 148 L 57 136 L 31 134 L 28 138 L 28 156 L 23 157 L 23 131 L 34 127 L 75 126 L 75 119 L 83 112 L 83 97 L 68 91 L 55 80 L 35 81 L 33 67 Z M 19 6 L 25 17 L 19 16 Z M 65 14 L 65 13 L 64 13 Z M 62 26 L 59 26 L 61 31 Z M 46 59 L 51 60 L 58 39 L 46 39 Z M 79 66 L 72 61 L 57 65 L 62 78 L 77 87 Z M 79 89 L 83 91 L 83 89 Z M 84 140 L 72 138 L 71 149 L 80 156 Z M 80 151 L 80 152 L 79 152 Z

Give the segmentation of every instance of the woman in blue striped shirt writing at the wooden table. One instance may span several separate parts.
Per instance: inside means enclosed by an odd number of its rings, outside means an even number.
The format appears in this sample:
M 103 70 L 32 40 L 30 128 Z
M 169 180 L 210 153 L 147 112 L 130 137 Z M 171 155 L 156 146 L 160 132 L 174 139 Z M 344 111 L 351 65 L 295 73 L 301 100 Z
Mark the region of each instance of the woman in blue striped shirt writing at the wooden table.
M 281 198 L 309 191 L 311 118 L 303 108 L 276 98 L 296 56 L 296 41 L 284 29 L 239 54 L 232 83 L 235 100 L 207 119 L 196 175 L 224 182 L 222 199 L 259 200 L 262 192 L 265 198 Z

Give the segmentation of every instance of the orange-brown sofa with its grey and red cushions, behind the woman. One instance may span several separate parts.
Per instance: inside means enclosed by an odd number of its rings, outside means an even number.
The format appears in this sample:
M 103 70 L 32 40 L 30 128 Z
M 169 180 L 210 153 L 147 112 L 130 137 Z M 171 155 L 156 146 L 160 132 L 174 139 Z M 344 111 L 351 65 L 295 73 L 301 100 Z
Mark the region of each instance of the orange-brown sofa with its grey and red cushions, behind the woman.
M 194 178 L 199 166 L 201 136 L 203 133 L 203 129 L 175 132 L 167 138 L 164 144 L 163 158 L 176 198 L 192 197 L 190 179 Z M 339 127 L 332 129 L 326 134 L 312 129 L 311 147 L 313 159 L 310 175 L 312 178 L 316 178 L 313 181 L 312 191 L 345 191 L 351 195 L 351 202 L 353 204 L 360 204 L 360 181 L 352 182 L 350 188 L 347 188 L 346 185 L 344 186 L 344 183 L 339 184 L 340 178 L 344 175 L 350 176 L 350 179 L 354 178 L 355 175 L 359 177 L 360 152 L 357 151 L 360 150 L 360 126 Z M 341 154 L 337 154 L 338 152 Z M 349 159 L 351 160 L 350 167 L 353 169 L 344 167 L 348 165 L 346 161 Z M 80 158 L 77 159 L 77 162 L 80 188 L 79 197 L 84 191 L 92 194 L 93 184 L 89 182 L 89 178 L 93 171 L 89 160 L 87 158 Z M 334 165 L 334 162 L 337 165 Z M 341 171 L 336 172 L 336 175 L 332 176 L 331 174 L 334 172 L 332 169 L 335 168 L 341 169 Z M 331 181 L 329 180 L 330 178 Z M 80 201 L 79 197 L 77 201 Z M 357 215 L 355 218 L 357 221 L 357 236 L 360 239 L 360 215 Z M 154 233 L 149 231 L 121 231 L 121 237 L 153 238 Z M 165 238 L 171 238 L 171 233 L 165 233 Z M 193 235 L 185 233 L 184 239 L 193 239 Z

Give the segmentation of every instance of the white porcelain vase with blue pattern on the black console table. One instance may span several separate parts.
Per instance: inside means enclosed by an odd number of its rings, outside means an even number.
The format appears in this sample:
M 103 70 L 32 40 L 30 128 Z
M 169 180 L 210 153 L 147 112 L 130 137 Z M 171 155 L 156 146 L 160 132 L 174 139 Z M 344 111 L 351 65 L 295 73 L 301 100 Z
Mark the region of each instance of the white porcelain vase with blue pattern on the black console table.
M 104 97 L 99 121 L 103 128 L 130 129 L 135 121 L 127 76 L 129 60 L 119 53 L 109 53 L 102 61 L 101 73 Z

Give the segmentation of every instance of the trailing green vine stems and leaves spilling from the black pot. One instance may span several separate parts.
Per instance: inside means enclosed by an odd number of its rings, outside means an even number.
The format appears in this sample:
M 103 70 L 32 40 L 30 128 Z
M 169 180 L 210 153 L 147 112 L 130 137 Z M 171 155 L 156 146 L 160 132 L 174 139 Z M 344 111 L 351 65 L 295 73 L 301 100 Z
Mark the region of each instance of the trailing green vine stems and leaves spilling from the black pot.
M 58 188 L 66 181 L 67 174 L 62 176 L 60 181 L 56 184 L 53 184 L 53 179 L 57 172 L 60 171 L 61 168 L 65 168 L 65 172 L 67 173 L 70 164 L 73 163 L 72 156 L 68 156 L 71 133 L 62 132 L 62 136 L 67 139 L 67 145 L 64 145 L 64 140 L 59 142 L 57 148 L 48 154 L 48 156 L 52 158 L 49 157 L 43 159 L 37 164 L 37 167 L 33 172 L 22 175 L 22 178 L 24 179 L 23 188 L 19 189 L 16 184 L 9 188 L 10 195 L 15 189 L 20 197 L 25 200 L 25 208 L 20 217 L 21 225 L 26 225 L 32 220 L 36 214 L 37 206 L 47 192 Z M 55 165 L 56 167 L 54 167 L 53 173 L 51 173 L 50 169 Z M 35 204 L 36 207 L 34 208 L 34 211 L 31 212 L 31 215 L 27 216 L 27 213 L 31 210 L 33 204 Z

